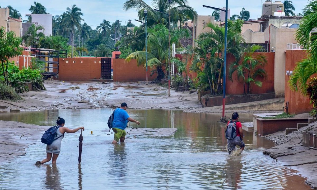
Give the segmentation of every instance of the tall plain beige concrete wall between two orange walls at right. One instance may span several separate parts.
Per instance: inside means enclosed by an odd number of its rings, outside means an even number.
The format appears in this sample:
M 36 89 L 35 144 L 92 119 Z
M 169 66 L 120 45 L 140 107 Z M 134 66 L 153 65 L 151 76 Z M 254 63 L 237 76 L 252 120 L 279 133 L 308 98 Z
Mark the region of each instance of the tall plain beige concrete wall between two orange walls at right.
M 274 65 L 274 91 L 277 97 L 284 96 L 285 91 L 285 51 L 288 43 L 297 43 L 295 39 L 296 28 L 276 28 L 270 27 L 271 51 L 275 51 Z

